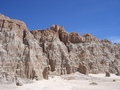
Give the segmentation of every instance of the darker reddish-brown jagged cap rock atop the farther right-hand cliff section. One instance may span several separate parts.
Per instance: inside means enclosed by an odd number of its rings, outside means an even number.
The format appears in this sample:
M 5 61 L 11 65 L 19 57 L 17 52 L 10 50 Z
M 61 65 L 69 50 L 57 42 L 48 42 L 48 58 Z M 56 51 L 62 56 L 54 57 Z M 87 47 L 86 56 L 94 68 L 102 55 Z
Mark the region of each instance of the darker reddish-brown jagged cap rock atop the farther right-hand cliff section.
M 52 25 L 46 30 L 33 30 L 31 33 L 37 38 L 59 38 L 62 42 L 66 43 L 82 43 L 82 42 L 99 42 L 100 40 L 91 34 L 84 34 L 80 36 L 78 33 L 65 31 L 63 26 Z M 44 35 L 44 36 L 43 36 Z M 39 38 L 40 39 L 40 38 Z

